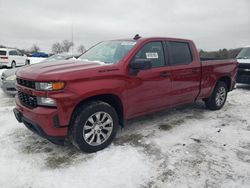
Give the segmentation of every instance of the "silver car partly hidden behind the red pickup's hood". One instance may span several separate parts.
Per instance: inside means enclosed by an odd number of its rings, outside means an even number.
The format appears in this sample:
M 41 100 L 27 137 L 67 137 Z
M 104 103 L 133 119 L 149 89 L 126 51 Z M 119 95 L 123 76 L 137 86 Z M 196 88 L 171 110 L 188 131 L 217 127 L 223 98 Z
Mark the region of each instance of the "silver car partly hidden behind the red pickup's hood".
M 76 58 L 78 56 L 79 55 L 72 55 L 72 54 L 55 54 L 55 55 L 50 56 L 49 58 L 41 61 L 40 63 L 46 63 L 46 62 L 52 63 L 52 62 L 57 62 L 59 60 L 67 60 L 67 59 L 71 59 L 71 58 Z M 16 71 L 20 68 L 22 68 L 22 67 L 9 69 L 9 70 L 6 70 L 2 73 L 1 87 L 2 87 L 3 91 L 8 95 L 14 96 L 17 93 L 17 90 L 16 90 Z

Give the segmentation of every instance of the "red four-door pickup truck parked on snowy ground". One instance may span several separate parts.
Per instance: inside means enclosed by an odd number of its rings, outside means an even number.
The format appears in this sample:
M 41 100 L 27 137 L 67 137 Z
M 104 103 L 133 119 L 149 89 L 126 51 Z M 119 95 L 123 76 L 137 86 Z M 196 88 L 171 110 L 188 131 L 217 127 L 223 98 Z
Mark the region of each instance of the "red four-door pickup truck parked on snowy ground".
M 84 152 L 107 147 L 126 120 L 202 99 L 223 107 L 235 86 L 234 60 L 201 61 L 190 40 L 140 38 L 101 42 L 78 60 L 17 71 L 19 122 L 56 144 Z

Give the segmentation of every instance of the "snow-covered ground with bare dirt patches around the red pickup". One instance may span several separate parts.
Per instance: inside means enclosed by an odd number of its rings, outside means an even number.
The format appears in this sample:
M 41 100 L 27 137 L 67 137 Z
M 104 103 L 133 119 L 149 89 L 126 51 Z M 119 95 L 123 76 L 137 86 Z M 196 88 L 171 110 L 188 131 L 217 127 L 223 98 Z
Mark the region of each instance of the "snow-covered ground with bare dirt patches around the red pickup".
M 220 111 L 197 102 L 131 120 L 94 154 L 31 133 L 13 107 L 0 91 L 0 187 L 250 187 L 250 86 Z

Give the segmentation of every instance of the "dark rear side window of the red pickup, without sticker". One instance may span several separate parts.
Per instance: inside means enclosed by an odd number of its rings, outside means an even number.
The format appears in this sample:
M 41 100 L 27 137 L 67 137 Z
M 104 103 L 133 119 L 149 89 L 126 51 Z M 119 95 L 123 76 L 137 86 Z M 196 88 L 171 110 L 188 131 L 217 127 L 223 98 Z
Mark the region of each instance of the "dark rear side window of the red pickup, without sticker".
M 168 42 L 171 56 L 172 65 L 184 65 L 192 62 L 192 54 L 189 44 L 185 42 Z

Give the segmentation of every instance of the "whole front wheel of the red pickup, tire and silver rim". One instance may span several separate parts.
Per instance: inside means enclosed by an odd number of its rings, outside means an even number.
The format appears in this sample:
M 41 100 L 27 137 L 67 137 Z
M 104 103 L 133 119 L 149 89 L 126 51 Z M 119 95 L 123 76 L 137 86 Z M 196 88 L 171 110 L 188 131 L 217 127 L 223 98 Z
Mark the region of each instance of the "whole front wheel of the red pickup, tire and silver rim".
M 71 141 L 87 153 L 102 150 L 110 145 L 119 127 L 115 109 L 102 101 L 82 105 L 73 116 Z

